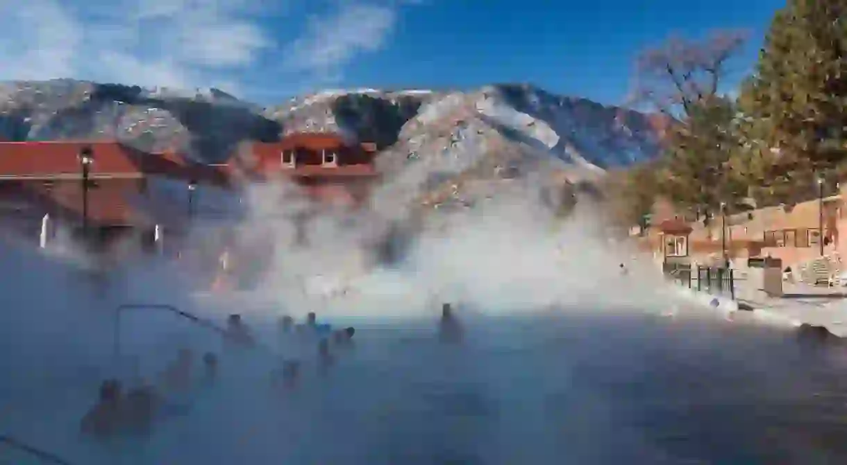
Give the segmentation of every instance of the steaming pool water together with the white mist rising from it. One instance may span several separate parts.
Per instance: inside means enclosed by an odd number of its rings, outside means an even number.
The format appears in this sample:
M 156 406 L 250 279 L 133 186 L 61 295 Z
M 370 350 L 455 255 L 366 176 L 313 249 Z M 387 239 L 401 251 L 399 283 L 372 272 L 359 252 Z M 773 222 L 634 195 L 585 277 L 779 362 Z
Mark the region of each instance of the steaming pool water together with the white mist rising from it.
M 77 254 L 5 245 L 0 434 L 80 464 L 844 457 L 829 439 L 847 413 L 839 353 L 797 344 L 789 325 L 730 323 L 680 298 L 649 260 L 606 240 L 592 205 L 562 222 L 533 199 L 424 222 L 417 238 L 394 238 L 399 258 L 388 262 L 375 251 L 396 216 L 326 209 L 298 226 L 296 214 L 315 205 L 257 186 L 232 238 L 228 279 L 245 283 L 232 292 L 198 286 L 180 263 L 95 273 Z M 213 228 L 198 221 L 191 243 Z M 435 337 L 444 302 L 466 326 L 460 346 Z M 115 308 L 127 303 L 173 305 L 220 327 L 238 313 L 261 345 L 233 351 L 172 312 L 132 309 L 116 358 Z M 316 342 L 276 329 L 281 315 L 310 311 L 357 328 L 355 349 L 333 349 L 325 375 Z M 147 440 L 79 434 L 103 379 L 157 382 L 185 347 L 198 368 L 202 353 L 220 357 L 219 382 L 180 399 L 188 413 L 161 419 Z M 302 360 L 294 391 L 270 386 L 282 358 Z M 13 454 L 0 446 L 2 459 L 43 463 Z

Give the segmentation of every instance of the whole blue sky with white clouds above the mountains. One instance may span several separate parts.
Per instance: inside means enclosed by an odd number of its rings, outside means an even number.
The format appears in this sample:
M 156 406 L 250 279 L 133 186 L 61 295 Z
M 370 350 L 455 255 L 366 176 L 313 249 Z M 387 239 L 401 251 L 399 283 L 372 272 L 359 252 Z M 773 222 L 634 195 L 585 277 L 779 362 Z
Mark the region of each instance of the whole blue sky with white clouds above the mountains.
M 749 71 L 785 0 L 0 0 L 0 79 L 216 86 L 263 104 L 322 88 L 531 82 L 623 101 L 669 34 L 740 28 Z M 649 6 L 642 6 L 649 5 Z

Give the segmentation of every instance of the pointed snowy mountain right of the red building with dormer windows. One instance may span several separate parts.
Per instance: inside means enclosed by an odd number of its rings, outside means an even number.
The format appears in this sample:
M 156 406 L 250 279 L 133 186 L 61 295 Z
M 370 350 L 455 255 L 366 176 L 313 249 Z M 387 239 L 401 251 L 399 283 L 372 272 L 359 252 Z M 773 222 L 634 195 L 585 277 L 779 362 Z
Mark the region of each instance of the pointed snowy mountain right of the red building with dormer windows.
M 539 189 L 590 181 L 656 156 L 660 139 L 646 115 L 531 86 L 455 92 L 422 104 L 380 154 L 374 204 L 470 207 L 534 173 Z

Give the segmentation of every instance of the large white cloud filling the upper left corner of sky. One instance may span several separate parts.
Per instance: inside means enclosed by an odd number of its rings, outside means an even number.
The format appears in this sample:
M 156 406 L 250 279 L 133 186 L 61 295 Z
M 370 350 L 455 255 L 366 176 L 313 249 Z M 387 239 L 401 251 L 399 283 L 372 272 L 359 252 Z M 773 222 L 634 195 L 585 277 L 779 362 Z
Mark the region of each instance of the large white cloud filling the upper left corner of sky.
M 0 0 L 0 79 L 212 85 L 273 41 L 239 8 L 203 1 Z M 92 13 L 93 12 L 93 13 Z M 9 66 L 9 63 L 14 65 Z

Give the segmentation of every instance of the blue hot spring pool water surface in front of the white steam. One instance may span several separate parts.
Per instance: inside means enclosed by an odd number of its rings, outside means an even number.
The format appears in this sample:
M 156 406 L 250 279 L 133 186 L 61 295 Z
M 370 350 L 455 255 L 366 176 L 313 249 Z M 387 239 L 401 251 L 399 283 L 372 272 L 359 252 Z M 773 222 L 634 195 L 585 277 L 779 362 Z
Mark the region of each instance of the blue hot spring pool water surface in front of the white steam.
M 444 347 L 429 323 L 357 320 L 355 350 L 325 377 L 307 364 L 288 394 L 268 387 L 273 357 L 224 354 L 219 385 L 146 442 L 80 438 L 85 374 L 5 391 L 0 428 L 80 465 L 847 460 L 847 353 L 788 329 L 590 312 L 465 323 L 466 343 Z M 3 460 L 47 463 L 0 447 Z

